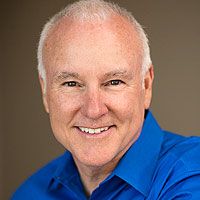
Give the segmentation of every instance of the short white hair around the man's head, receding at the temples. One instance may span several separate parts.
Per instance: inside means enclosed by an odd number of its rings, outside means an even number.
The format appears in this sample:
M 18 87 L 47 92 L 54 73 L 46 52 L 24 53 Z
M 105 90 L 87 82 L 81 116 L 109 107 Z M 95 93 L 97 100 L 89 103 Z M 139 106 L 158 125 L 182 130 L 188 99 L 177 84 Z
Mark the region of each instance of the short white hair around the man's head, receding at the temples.
M 46 82 L 46 72 L 43 65 L 43 46 L 49 31 L 56 25 L 59 19 L 69 17 L 73 20 L 97 21 L 106 20 L 112 15 L 124 17 L 135 28 L 142 44 L 142 75 L 144 75 L 152 63 L 149 42 L 145 31 L 133 15 L 126 9 L 119 7 L 117 4 L 106 2 L 104 0 L 80 0 L 68 5 L 59 13 L 55 14 L 43 27 L 38 45 L 37 58 L 38 72 L 41 78 L 44 79 L 44 82 Z

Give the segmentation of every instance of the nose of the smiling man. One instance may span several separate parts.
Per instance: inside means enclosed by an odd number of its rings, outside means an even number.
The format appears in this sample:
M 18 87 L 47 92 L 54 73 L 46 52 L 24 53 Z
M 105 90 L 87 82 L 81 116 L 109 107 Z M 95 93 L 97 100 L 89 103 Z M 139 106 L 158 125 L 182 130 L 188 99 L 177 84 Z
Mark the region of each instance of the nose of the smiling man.
M 82 102 L 82 114 L 89 119 L 99 119 L 108 112 L 105 97 L 100 89 L 93 88 L 85 91 Z

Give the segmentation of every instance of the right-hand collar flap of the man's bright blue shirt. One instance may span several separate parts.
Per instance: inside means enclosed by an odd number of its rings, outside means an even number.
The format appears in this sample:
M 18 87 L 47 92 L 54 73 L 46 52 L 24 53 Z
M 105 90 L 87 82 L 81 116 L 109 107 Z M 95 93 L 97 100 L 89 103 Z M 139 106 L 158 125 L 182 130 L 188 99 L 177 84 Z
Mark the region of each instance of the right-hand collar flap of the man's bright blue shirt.
M 147 111 L 142 132 L 113 171 L 132 187 L 147 196 L 159 157 L 163 132 L 150 111 Z

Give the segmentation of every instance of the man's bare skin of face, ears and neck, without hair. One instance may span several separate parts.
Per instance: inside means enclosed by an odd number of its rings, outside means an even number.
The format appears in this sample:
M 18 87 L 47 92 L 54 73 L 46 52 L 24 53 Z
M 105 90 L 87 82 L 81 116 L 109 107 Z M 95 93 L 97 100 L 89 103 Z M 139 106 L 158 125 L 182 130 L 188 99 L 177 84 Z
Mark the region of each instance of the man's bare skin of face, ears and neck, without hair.
M 120 16 L 96 23 L 62 18 L 43 55 L 46 91 L 41 77 L 40 83 L 53 133 L 72 153 L 90 195 L 140 135 L 153 67 L 141 76 L 141 44 Z M 89 135 L 78 127 L 109 129 Z

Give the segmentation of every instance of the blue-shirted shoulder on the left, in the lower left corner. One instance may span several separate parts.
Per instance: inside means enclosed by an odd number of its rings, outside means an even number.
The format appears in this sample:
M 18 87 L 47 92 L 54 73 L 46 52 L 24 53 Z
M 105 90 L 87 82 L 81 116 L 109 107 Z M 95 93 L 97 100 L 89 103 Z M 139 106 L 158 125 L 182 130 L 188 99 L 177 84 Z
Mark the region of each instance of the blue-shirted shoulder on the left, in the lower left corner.
M 12 200 L 45 199 L 42 197 L 64 155 L 57 157 L 30 176 L 13 194 Z

